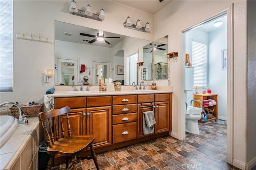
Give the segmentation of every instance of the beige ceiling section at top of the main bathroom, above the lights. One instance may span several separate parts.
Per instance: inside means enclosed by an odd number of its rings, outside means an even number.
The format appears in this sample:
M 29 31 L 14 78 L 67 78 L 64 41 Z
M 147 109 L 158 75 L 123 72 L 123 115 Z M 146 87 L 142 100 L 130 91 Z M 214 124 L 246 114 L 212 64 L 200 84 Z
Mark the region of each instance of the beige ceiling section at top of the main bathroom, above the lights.
M 124 4 L 126 6 L 130 6 L 137 10 L 141 10 L 144 12 L 148 12 L 150 14 L 156 14 L 166 5 L 168 5 L 172 0 L 163 0 L 160 2 L 159 0 L 114 0 L 120 4 Z

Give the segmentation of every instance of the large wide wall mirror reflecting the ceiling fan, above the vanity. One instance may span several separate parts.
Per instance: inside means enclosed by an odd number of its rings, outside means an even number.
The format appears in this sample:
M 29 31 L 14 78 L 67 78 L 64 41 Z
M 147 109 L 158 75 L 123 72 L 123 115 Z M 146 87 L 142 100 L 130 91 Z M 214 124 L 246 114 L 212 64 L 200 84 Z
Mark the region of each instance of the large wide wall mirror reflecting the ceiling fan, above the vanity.
M 103 41 L 97 40 L 100 36 L 104 37 Z M 143 48 L 148 48 L 149 44 L 152 42 L 55 21 L 55 84 L 78 85 L 84 81 L 84 77 L 88 78 L 89 84 L 97 84 L 98 79 L 103 77 L 120 80 L 129 85 L 124 60 L 138 51 L 143 51 Z M 148 58 L 151 63 L 146 64 L 149 66 L 146 78 L 150 80 L 152 54 Z M 86 66 L 85 71 L 81 72 L 81 64 Z M 118 66 L 124 66 L 124 72 L 119 72 Z

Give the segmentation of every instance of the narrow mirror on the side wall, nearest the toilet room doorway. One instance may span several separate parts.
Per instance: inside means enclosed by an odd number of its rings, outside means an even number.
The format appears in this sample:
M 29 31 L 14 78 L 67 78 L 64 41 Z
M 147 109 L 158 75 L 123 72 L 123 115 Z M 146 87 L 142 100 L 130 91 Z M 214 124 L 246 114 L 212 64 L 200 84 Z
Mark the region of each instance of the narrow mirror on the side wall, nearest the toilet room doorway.
M 167 68 L 167 43 L 168 36 L 162 37 L 154 43 L 154 77 L 165 79 L 168 77 Z

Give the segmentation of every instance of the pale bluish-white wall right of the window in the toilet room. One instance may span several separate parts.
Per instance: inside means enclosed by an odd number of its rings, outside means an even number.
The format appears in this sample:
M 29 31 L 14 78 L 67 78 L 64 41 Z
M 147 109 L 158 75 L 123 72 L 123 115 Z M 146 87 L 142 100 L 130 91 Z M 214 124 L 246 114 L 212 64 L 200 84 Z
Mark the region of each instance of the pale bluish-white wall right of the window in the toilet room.
M 221 50 L 227 49 L 227 25 L 209 33 L 208 88 L 218 94 L 218 116 L 227 117 L 227 69 L 222 70 Z

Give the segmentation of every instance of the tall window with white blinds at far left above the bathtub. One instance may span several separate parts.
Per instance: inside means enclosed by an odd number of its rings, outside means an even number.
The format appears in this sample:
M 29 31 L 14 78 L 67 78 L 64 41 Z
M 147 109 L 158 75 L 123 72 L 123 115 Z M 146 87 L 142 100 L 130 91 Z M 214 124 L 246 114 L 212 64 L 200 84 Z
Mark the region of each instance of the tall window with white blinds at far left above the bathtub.
M 0 0 L 0 92 L 13 92 L 12 0 Z

